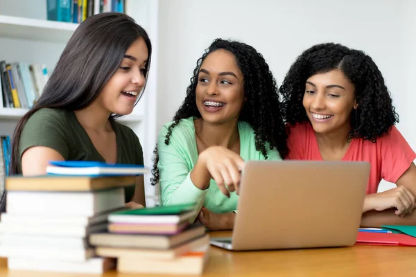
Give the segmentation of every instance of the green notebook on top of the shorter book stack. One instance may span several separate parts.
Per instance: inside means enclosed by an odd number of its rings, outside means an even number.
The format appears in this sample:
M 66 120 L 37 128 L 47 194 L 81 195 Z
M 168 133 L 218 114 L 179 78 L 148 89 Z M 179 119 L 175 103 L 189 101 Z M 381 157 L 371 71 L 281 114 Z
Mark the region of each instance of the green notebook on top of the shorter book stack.
M 119 211 L 111 215 L 180 215 L 181 213 L 193 211 L 195 203 L 178 204 L 171 206 L 157 206 L 152 208 L 135 208 L 132 210 Z

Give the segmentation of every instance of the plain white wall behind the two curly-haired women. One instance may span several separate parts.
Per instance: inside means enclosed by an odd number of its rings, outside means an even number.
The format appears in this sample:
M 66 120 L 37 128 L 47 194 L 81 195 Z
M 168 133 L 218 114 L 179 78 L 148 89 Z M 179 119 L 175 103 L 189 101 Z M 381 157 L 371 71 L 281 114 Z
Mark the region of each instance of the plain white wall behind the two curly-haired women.
M 365 51 L 379 66 L 401 116 L 398 127 L 416 150 L 414 10 L 412 0 L 160 0 L 157 129 L 184 100 L 196 60 L 216 37 L 257 48 L 279 85 L 306 48 L 340 42 Z

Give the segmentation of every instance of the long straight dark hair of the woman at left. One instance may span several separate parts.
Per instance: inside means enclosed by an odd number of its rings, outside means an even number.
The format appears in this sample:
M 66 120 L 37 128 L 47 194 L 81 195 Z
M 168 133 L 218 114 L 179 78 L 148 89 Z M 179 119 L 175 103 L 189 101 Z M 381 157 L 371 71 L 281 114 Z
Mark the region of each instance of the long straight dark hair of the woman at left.
M 134 19 L 119 12 L 104 12 L 88 17 L 76 28 L 39 100 L 17 123 L 10 175 L 21 174 L 19 140 L 28 118 L 42 108 L 76 111 L 90 105 L 119 68 L 125 51 L 139 38 L 148 48 L 147 79 L 152 45 L 146 30 Z M 116 116 L 112 114 L 110 119 Z

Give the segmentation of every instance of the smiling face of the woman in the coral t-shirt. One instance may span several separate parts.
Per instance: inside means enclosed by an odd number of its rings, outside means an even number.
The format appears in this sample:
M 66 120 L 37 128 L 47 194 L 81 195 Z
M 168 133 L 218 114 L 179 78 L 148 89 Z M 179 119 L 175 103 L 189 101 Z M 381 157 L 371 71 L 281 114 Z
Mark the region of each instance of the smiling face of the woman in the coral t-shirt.
M 349 118 L 357 108 L 354 85 L 339 70 L 312 75 L 306 80 L 303 105 L 315 132 L 349 132 Z

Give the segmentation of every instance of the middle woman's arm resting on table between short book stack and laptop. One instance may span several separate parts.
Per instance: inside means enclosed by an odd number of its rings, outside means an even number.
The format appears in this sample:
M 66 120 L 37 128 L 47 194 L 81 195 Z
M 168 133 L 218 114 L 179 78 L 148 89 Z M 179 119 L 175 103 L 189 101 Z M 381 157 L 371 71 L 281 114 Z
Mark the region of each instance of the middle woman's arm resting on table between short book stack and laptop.
M 232 230 L 234 227 L 235 213 L 213 213 L 202 207 L 198 220 L 209 229 L 209 231 Z

